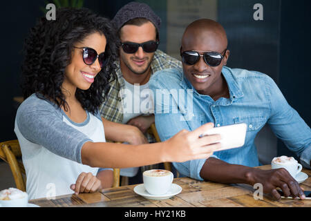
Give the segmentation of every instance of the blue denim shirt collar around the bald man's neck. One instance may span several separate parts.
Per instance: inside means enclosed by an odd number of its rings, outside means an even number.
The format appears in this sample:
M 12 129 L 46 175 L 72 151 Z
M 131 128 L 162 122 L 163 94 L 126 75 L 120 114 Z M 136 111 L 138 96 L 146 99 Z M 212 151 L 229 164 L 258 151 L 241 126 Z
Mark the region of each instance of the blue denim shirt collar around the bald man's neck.
M 194 86 L 192 86 L 192 84 L 190 84 L 188 79 L 183 74 L 182 68 L 180 68 L 180 71 L 181 71 L 181 74 L 183 76 L 182 80 L 180 81 L 180 86 L 182 86 L 182 88 L 184 88 L 184 89 L 192 89 L 195 91 L 195 93 L 198 93 L 196 91 L 196 88 L 194 88 Z M 225 77 L 225 79 L 227 81 L 230 99 L 233 101 L 234 99 L 237 99 L 239 97 L 243 97 L 243 92 L 238 87 L 238 83 L 236 82 L 236 79 L 234 79 L 234 77 L 232 75 L 232 69 L 228 68 L 226 66 L 223 66 L 223 70 L 221 71 L 221 73 L 223 74 L 223 77 Z M 200 94 L 198 93 L 198 95 L 200 95 Z

